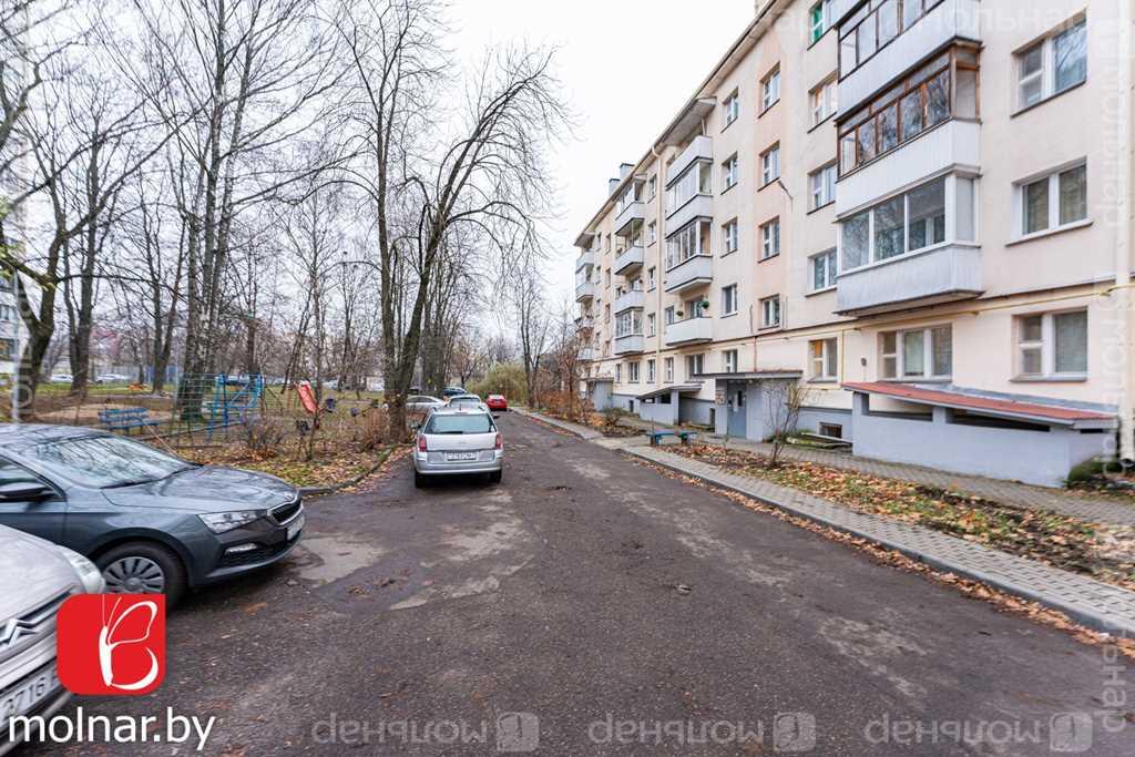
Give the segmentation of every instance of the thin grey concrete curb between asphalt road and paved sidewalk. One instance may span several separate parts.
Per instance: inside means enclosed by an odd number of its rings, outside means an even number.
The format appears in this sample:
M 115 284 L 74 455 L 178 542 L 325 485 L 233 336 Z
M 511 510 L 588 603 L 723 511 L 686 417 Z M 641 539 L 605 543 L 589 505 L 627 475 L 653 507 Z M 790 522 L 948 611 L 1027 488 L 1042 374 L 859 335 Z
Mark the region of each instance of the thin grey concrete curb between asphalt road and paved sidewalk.
M 816 513 L 810 513 L 810 512 L 807 512 L 807 511 L 793 507 L 790 504 L 784 504 L 782 502 L 777 502 L 775 499 L 772 499 L 770 497 L 756 494 L 754 491 L 746 490 L 742 487 L 734 486 L 734 485 L 729 483 L 728 481 L 724 481 L 724 480 L 721 480 L 721 479 L 715 479 L 712 476 L 705 476 L 705 474 L 695 473 L 695 472 L 691 472 L 691 471 L 688 471 L 688 470 L 683 470 L 683 469 L 681 469 L 678 465 L 669 464 L 669 463 L 666 463 L 664 461 L 655 460 L 654 457 L 651 457 L 649 455 L 641 454 L 640 452 L 638 452 L 638 451 L 636 451 L 633 448 L 628 448 L 628 449 L 624 449 L 623 452 L 625 452 L 627 454 L 632 455 L 632 456 L 634 456 L 634 457 L 637 457 L 639 460 L 644 460 L 644 461 L 653 463 L 655 465 L 661 465 L 661 466 L 663 466 L 663 468 L 665 468 L 667 470 L 674 471 L 675 473 L 680 473 L 682 476 L 688 476 L 690 478 L 698 479 L 700 481 L 705 481 L 706 483 L 711 483 L 711 485 L 713 485 L 715 487 L 720 487 L 722 489 L 728 489 L 730 491 L 735 491 L 737 494 L 740 494 L 742 496 L 749 497 L 751 499 L 756 499 L 756 501 L 762 502 L 762 503 L 764 503 L 766 505 L 770 505 L 772 507 L 776 507 L 779 510 L 783 510 L 784 512 L 791 513 L 792 515 L 796 515 L 798 518 L 804 518 L 804 519 L 807 519 L 807 520 L 809 520 L 809 521 L 812 521 L 814 523 L 818 523 L 821 525 L 825 525 L 827 528 L 832 528 L 832 529 L 834 529 L 836 531 L 841 531 L 843 533 L 849 533 L 849 535 L 855 536 L 857 538 L 866 539 L 867 541 L 871 541 L 873 544 L 877 544 L 877 545 L 880 545 L 882 547 L 886 547 L 888 549 L 893 549 L 893 550 L 896 550 L 898 553 L 901 553 L 901 554 L 906 555 L 907 557 L 910 557 L 911 560 L 917 560 L 918 562 L 924 563 L 926 565 L 930 565 L 931 567 L 934 567 L 936 570 L 947 571 L 947 572 L 950 572 L 950 573 L 955 573 L 957 575 L 961 575 L 961 577 L 965 577 L 965 578 L 968 578 L 968 579 L 973 579 L 975 581 L 981 581 L 982 583 L 985 583 L 986 586 L 993 587 L 993 588 L 999 589 L 1001 591 L 1004 591 L 1007 594 L 1011 594 L 1011 595 L 1015 595 L 1015 596 L 1018 596 L 1018 597 L 1023 597 L 1025 599 L 1037 602 L 1037 603 L 1040 603 L 1040 604 L 1042 604 L 1042 605 L 1044 605 L 1046 607 L 1051 607 L 1053 609 L 1058 609 L 1058 611 L 1065 613 L 1071 620 L 1074 620 L 1077 623 L 1081 623 L 1083 625 L 1086 625 L 1086 626 L 1088 626 L 1091 629 L 1095 629 L 1098 631 L 1103 631 L 1103 632 L 1111 633 L 1111 634 L 1115 634 L 1115 636 L 1123 636 L 1123 637 L 1126 637 L 1126 638 L 1135 638 L 1135 621 L 1133 621 L 1130 619 L 1119 617 L 1119 616 L 1116 616 L 1116 615 L 1110 615 L 1110 614 L 1104 614 L 1104 613 L 1087 611 L 1084 607 L 1078 606 L 1078 605 L 1074 605 L 1071 603 L 1068 603 L 1063 598 L 1058 597 L 1056 595 L 1052 595 L 1052 594 L 1049 594 L 1049 592 L 1045 592 L 1045 591 L 1042 591 L 1042 590 L 1034 589 L 1034 588 L 1032 588 L 1029 586 L 1025 586 L 1023 583 L 1012 581 L 1012 580 L 1007 579 L 1007 578 L 1001 577 L 1001 575 L 993 575 L 993 574 L 986 573 L 984 571 L 969 567 L 969 566 L 965 565 L 964 563 L 959 563 L 959 562 L 953 561 L 953 560 L 951 560 L 949 557 L 944 557 L 944 556 L 941 556 L 941 555 L 935 555 L 933 553 L 920 550 L 920 549 L 915 549 L 915 548 L 911 548 L 909 545 L 906 545 L 906 544 L 902 544 L 902 542 L 899 542 L 899 541 L 893 541 L 893 540 L 890 540 L 890 539 L 881 538 L 877 535 L 868 533 L 866 531 L 861 531 L 859 529 L 856 529 L 855 527 L 848 525 L 847 523 L 841 523 L 839 521 L 835 521 L 835 520 L 832 520 L 832 519 L 827 519 L 827 518 L 824 518 L 822 515 L 817 515 Z M 1053 570 L 1059 570 L 1059 569 L 1053 569 Z M 1102 583 L 1101 583 L 1101 586 L 1102 587 L 1108 587 L 1108 584 L 1102 584 Z M 1121 590 L 1121 589 L 1118 589 L 1117 587 L 1108 587 L 1108 588 L 1115 589 L 1115 590 Z

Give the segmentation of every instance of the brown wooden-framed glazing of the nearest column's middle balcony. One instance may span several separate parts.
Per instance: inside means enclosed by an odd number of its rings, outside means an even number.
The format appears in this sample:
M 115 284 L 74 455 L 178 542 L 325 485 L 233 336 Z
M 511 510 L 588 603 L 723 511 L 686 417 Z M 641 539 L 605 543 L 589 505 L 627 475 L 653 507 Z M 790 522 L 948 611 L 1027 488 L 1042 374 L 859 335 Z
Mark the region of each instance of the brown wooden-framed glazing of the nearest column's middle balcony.
M 976 50 L 955 47 L 860 108 L 840 125 L 840 174 L 950 118 L 976 118 L 977 68 Z

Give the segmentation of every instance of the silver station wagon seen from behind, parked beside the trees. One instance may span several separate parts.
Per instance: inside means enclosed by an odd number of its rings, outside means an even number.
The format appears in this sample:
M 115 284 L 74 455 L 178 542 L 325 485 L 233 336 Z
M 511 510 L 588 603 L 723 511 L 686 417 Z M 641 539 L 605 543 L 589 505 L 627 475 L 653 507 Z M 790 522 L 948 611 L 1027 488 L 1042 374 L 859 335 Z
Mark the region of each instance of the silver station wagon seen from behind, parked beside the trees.
M 435 410 L 418 430 L 414 486 L 435 476 L 484 474 L 499 483 L 504 472 L 504 440 L 484 410 Z

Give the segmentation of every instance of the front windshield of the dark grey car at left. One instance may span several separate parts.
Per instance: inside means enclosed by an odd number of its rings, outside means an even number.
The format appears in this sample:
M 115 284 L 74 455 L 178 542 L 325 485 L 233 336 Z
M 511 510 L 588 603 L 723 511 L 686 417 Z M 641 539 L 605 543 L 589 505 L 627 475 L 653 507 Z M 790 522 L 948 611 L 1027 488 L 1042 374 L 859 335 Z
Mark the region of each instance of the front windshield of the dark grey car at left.
M 114 487 L 157 481 L 193 463 L 117 436 L 84 436 L 30 445 L 19 451 L 79 486 Z

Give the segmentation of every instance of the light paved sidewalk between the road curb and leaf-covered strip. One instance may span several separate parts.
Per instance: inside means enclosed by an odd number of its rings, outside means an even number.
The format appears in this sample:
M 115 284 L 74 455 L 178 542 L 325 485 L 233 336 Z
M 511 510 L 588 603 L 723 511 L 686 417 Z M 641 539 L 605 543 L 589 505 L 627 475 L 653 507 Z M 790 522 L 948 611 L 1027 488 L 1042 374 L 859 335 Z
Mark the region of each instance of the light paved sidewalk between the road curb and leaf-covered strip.
M 799 489 L 729 473 L 716 465 L 658 447 L 639 445 L 628 447 L 624 452 L 817 523 L 869 539 L 939 570 L 1036 600 L 1090 628 L 1115 636 L 1135 637 L 1135 592 L 927 528 L 857 513 Z

